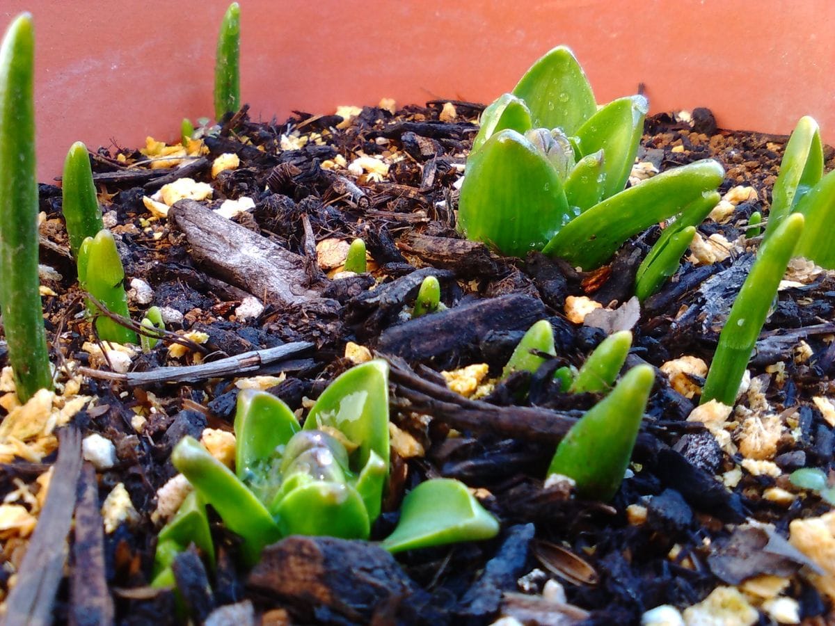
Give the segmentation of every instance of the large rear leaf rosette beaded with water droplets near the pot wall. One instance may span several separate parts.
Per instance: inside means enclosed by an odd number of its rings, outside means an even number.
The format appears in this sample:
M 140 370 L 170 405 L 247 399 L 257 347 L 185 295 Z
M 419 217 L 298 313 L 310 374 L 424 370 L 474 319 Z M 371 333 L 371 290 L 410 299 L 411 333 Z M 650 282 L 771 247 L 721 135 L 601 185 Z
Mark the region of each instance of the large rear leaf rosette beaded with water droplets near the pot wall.
M 554 48 L 484 110 L 458 201 L 458 227 L 505 255 L 531 250 L 591 270 L 625 240 L 703 204 L 724 177 L 712 159 L 624 190 L 647 103 L 598 108 L 568 48 Z

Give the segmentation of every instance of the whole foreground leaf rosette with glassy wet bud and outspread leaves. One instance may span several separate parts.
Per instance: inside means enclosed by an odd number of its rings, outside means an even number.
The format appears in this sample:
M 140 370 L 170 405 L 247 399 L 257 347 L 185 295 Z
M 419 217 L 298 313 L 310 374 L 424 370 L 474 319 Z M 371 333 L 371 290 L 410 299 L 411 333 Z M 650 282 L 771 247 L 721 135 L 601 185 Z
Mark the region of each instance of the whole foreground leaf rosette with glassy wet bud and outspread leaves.
M 160 532 L 154 584 L 169 584 L 176 553 L 195 542 L 210 557 L 205 504 L 241 538 L 248 565 L 292 534 L 367 539 L 388 477 L 388 366 L 353 367 L 321 394 L 304 427 L 276 396 L 242 391 L 235 414 L 235 472 L 185 437 L 171 456 L 195 496 Z M 463 483 L 435 479 L 409 492 L 382 541 L 392 553 L 492 538 L 498 523 Z

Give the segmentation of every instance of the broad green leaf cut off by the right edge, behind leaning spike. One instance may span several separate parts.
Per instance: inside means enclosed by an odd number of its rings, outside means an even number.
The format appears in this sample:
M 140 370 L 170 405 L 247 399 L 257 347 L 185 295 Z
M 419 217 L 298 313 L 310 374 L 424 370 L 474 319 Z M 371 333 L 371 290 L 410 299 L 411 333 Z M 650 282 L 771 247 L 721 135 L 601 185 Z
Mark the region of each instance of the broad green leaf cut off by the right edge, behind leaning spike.
M 835 218 L 835 175 L 824 176 L 800 199 L 795 211 L 806 218 L 803 234 L 794 250 L 827 270 L 835 270 L 835 238 L 832 220 Z M 771 220 L 771 218 L 769 218 Z

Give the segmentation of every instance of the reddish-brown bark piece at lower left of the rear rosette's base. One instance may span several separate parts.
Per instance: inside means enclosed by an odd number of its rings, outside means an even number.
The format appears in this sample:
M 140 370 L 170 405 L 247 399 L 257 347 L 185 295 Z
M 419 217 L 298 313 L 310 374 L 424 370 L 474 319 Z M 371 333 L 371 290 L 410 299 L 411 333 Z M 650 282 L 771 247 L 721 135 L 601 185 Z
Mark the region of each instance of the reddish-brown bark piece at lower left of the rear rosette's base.
M 460 278 L 494 276 L 503 265 L 480 241 L 409 233 L 400 238 L 397 247 L 430 265 L 453 270 Z

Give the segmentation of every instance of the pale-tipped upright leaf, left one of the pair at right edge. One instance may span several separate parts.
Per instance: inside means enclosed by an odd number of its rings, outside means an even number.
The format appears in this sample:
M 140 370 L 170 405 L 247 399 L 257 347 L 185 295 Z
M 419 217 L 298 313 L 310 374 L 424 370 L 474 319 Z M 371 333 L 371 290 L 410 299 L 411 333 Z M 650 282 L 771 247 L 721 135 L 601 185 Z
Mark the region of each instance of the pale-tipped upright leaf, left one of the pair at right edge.
M 795 204 L 823 175 L 823 147 L 817 122 L 802 117 L 792 131 L 780 163 L 780 174 L 772 189 L 772 205 L 768 210 L 766 238 L 786 219 Z

